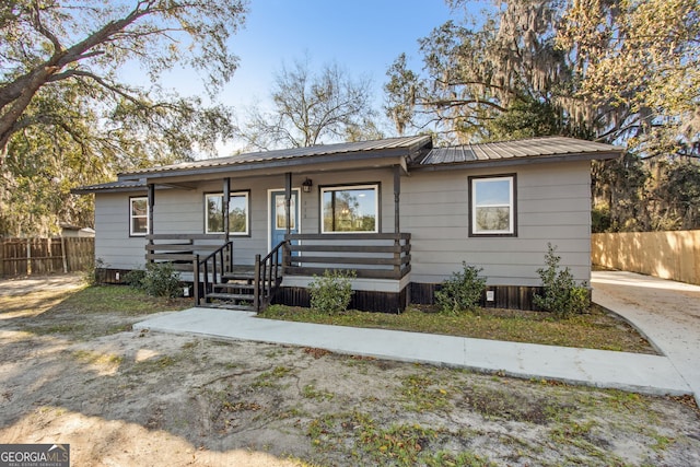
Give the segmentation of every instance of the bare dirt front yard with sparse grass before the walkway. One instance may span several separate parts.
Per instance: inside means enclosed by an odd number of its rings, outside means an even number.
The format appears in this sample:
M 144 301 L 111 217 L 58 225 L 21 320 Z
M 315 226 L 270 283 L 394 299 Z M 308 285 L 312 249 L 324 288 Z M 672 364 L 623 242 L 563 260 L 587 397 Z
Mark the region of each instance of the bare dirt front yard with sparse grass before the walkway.
M 57 318 L 81 319 L 0 310 L 0 443 L 70 444 L 74 466 L 700 465 L 690 398 Z

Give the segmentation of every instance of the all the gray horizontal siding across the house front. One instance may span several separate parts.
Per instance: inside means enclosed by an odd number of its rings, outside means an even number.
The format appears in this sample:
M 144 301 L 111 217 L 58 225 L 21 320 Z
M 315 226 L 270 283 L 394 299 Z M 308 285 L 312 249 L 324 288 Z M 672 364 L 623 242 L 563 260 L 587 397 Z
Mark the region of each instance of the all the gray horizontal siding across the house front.
M 516 174 L 517 236 L 469 236 L 469 176 Z M 294 175 L 301 187 L 308 176 L 312 192 L 300 192 L 303 233 L 319 232 L 322 186 L 380 185 L 381 232 L 394 231 L 394 179 L 389 168 L 315 172 Z M 483 268 L 494 285 L 539 285 L 547 243 L 557 245 L 562 266 L 578 280 L 590 280 L 591 195 L 590 162 L 517 165 L 500 170 L 451 168 L 413 172 L 401 177 L 400 230 L 411 234 L 410 281 L 439 283 L 462 267 L 462 261 Z M 232 235 L 237 264 L 253 264 L 268 252 L 269 190 L 282 189 L 282 175 L 232 178 L 231 191 L 248 191 L 250 235 Z M 205 232 L 205 195 L 222 191 L 223 180 L 195 189 L 155 191 L 154 233 Z M 95 257 L 106 267 L 133 269 L 144 265 L 143 237 L 129 236 L 129 197 L 144 191 L 97 194 L 95 199 Z M 349 240 L 351 234 L 349 234 Z

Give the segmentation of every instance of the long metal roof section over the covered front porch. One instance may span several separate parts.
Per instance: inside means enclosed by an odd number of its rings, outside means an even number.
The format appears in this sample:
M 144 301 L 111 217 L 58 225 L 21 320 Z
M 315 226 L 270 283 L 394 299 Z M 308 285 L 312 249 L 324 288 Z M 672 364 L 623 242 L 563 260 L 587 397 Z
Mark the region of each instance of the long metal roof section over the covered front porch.
M 132 174 L 160 174 L 179 171 L 192 171 L 198 168 L 226 167 L 240 164 L 273 163 L 290 159 L 312 157 L 318 155 L 347 155 L 365 154 L 373 151 L 405 150 L 406 155 L 413 149 L 431 144 L 429 136 L 415 136 L 402 138 L 389 138 L 374 141 L 346 142 L 338 144 L 313 145 L 308 148 L 280 149 L 273 151 L 249 152 L 245 154 L 231 155 L 228 157 L 214 157 L 205 161 L 186 162 L 182 164 L 163 165 L 160 167 L 143 168 L 130 172 Z M 430 147 L 430 145 L 429 145 Z

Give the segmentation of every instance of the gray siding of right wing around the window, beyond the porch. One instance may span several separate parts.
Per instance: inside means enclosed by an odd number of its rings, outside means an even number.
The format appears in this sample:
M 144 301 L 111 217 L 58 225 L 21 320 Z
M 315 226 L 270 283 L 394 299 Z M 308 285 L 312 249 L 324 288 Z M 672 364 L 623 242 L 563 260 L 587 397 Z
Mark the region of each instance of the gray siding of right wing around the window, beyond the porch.
M 516 174 L 517 236 L 470 237 L 468 177 L 499 174 Z M 464 260 L 483 268 L 489 284 L 537 287 L 548 242 L 562 266 L 588 281 L 590 187 L 586 161 L 412 173 L 401 187 L 401 230 L 412 235 L 411 281 L 439 283 Z

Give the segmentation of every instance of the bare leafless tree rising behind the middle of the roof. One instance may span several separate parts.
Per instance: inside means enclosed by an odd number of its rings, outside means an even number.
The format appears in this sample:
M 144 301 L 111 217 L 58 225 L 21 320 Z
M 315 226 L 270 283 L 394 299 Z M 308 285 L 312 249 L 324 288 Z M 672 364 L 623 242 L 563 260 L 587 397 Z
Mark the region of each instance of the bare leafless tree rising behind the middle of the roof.
M 381 138 L 370 98 L 369 80 L 354 80 L 337 65 L 314 73 L 308 59 L 296 60 L 276 75 L 272 109 L 252 107 L 237 135 L 259 150 Z

